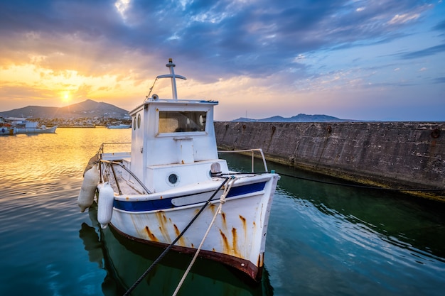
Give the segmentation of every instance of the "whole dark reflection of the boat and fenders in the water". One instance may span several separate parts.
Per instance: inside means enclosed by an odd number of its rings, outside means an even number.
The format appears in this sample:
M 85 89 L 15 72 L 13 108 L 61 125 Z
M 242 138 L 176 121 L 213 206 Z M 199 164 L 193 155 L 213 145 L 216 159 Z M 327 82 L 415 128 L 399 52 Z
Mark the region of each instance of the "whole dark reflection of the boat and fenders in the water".
M 79 236 L 89 260 L 107 270 L 102 292 L 107 296 L 123 295 L 158 258 L 163 248 L 126 239 L 112 227 L 101 229 L 96 219 L 96 204 L 90 207 L 89 214 L 92 226 L 83 223 Z M 172 295 L 191 259 L 191 255 L 167 253 L 131 295 Z M 273 291 L 266 268 L 262 281 L 252 283 L 234 268 L 198 258 L 178 295 L 273 295 Z

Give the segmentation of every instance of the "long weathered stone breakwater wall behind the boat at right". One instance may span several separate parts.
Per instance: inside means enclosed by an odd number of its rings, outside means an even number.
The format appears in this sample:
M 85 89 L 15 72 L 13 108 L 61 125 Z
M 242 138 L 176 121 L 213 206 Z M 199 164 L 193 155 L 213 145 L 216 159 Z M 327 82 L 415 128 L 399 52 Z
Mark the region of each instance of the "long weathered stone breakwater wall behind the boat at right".
M 445 122 L 215 122 L 218 148 L 367 185 L 445 188 Z M 445 202 L 445 192 L 421 194 Z

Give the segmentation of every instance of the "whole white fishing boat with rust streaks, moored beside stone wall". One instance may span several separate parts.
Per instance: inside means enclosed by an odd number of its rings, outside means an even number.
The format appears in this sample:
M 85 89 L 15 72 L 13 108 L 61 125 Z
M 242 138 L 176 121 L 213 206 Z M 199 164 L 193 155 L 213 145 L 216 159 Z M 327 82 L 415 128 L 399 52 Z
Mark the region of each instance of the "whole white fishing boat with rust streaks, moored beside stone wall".
M 78 197 L 81 212 L 97 199 L 97 220 L 129 239 L 219 261 L 260 280 L 267 224 L 279 175 L 232 172 L 218 157 L 215 101 L 156 94 L 130 112 L 132 143 L 103 143 L 90 160 Z M 252 156 L 252 162 L 254 158 Z M 95 195 L 96 190 L 98 194 Z

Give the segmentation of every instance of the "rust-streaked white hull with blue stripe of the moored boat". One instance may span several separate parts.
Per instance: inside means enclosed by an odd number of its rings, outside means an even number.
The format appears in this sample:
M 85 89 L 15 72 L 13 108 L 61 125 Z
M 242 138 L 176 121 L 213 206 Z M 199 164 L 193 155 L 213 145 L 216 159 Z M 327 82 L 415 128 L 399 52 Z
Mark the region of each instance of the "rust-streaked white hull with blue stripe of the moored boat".
M 264 174 L 237 180 L 218 212 L 221 190 L 172 249 L 195 253 L 216 215 L 199 256 L 237 268 L 254 280 L 261 279 L 269 212 L 278 179 L 276 174 Z M 129 239 L 165 247 L 186 229 L 220 183 L 215 182 L 213 190 L 207 187 L 178 197 L 115 195 L 110 224 Z

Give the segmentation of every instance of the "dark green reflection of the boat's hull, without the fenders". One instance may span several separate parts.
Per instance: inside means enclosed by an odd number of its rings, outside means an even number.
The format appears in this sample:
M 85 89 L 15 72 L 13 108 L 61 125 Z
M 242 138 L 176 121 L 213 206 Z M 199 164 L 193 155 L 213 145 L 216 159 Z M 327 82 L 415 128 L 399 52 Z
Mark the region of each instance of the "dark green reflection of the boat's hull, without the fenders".
M 83 225 L 82 230 L 84 233 L 89 231 L 88 234 L 92 237 L 90 241 L 96 242 L 93 246 L 101 246 L 94 227 Z M 161 248 L 128 241 L 111 227 L 101 229 L 100 237 L 104 246 L 100 251 L 104 252 L 107 272 L 112 276 L 114 283 L 119 283 L 119 287 L 122 286 L 120 295 L 134 284 L 162 252 Z M 173 295 L 173 290 L 180 283 L 190 261 L 191 256 L 169 253 L 156 265 L 156 273 L 152 273 L 149 280 L 141 281 L 131 295 Z M 263 280 L 267 282 L 267 276 L 263 275 Z M 225 265 L 198 259 L 181 287 L 181 295 L 259 296 L 264 295 L 262 286 L 250 285 L 240 278 L 238 273 L 233 273 L 232 268 L 225 268 Z M 266 287 L 272 290 L 267 283 Z

